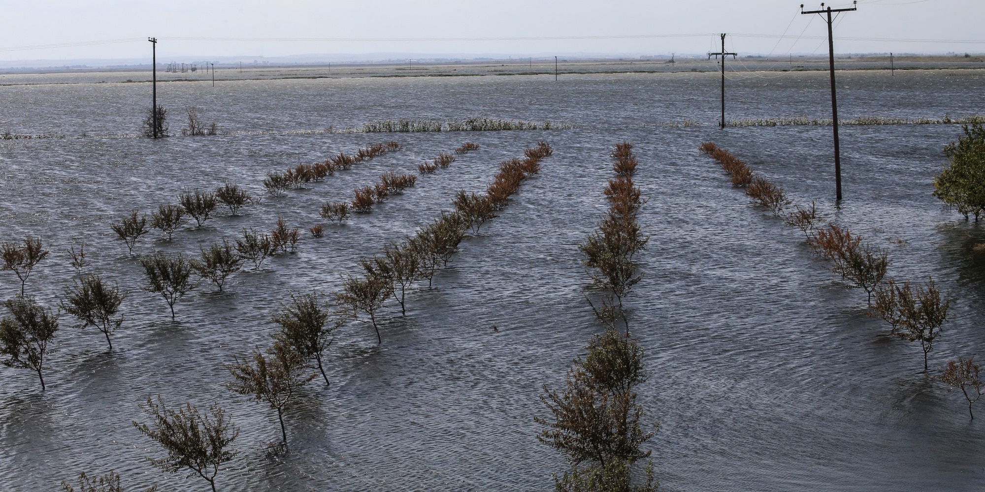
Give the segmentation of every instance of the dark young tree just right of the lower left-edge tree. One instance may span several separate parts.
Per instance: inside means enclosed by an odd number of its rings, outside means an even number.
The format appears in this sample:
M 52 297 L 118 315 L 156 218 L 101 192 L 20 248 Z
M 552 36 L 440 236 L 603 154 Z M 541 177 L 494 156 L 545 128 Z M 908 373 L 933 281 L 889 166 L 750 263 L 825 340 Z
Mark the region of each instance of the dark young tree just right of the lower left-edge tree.
M 109 340 L 109 336 L 123 324 L 123 317 L 116 315 L 125 298 L 126 293 L 120 292 L 115 283 L 110 285 L 103 282 L 98 275 L 91 274 L 65 289 L 65 300 L 61 307 L 82 322 L 79 328 L 92 325 L 102 332 L 112 350 L 113 342 Z

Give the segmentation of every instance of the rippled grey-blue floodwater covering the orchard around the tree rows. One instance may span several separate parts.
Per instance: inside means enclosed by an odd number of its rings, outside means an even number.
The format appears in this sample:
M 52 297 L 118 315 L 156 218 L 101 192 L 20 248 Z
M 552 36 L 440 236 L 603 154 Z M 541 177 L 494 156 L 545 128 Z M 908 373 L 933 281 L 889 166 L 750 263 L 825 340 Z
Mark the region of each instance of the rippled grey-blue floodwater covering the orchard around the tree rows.
M 824 73 L 760 74 L 729 82 L 729 118 L 827 117 Z M 765 76 L 775 78 L 765 78 Z M 731 76 L 730 76 L 731 77 Z M 93 76 L 99 82 L 99 76 Z M 319 79 L 170 83 L 159 101 L 171 130 L 197 106 L 225 135 L 134 138 L 147 84 L 0 88 L 0 132 L 64 138 L 0 141 L 0 235 L 40 235 L 51 254 L 28 291 L 56 306 L 74 271 L 66 250 L 85 243 L 91 272 L 129 292 L 126 321 L 107 352 L 101 334 L 62 318 L 45 372 L 0 368 L 0 490 L 55 490 L 80 471 L 114 469 L 126 490 L 205 490 L 145 457 L 162 451 L 137 432 L 138 403 L 218 400 L 241 428 L 221 490 L 553 490 L 561 457 L 537 442 L 547 416 L 541 386 L 558 387 L 571 358 L 600 328 L 581 291 L 588 277 L 576 244 L 606 208 L 613 144 L 628 141 L 648 198 L 646 273 L 628 300 L 633 335 L 652 371 L 639 388 L 664 490 L 970 490 L 985 478 L 982 419 L 922 369 L 919 346 L 888 338 L 848 289 L 813 256 L 797 229 L 732 189 L 697 152 L 713 140 L 746 159 L 798 203 L 817 201 L 892 259 L 890 276 L 934 277 L 952 295 L 951 321 L 933 367 L 981 354 L 985 242 L 973 222 L 931 196 L 932 178 L 956 125 L 842 128 L 845 200 L 833 204 L 830 127 L 714 126 L 715 74 L 609 74 L 413 79 Z M 982 112 L 985 74 L 907 71 L 839 74 L 839 109 L 855 116 L 952 117 Z M 341 134 L 317 132 L 378 118 L 488 116 L 568 123 L 549 131 Z M 684 119 L 701 126 L 670 128 Z M 308 132 L 312 131 L 312 132 Z M 109 223 L 150 213 L 183 190 L 223 181 L 262 196 L 268 171 L 384 140 L 386 154 L 322 183 L 264 197 L 241 216 L 187 225 L 167 242 L 138 243 L 197 254 L 242 227 L 270 229 L 278 216 L 304 230 L 326 200 L 464 142 L 482 149 L 421 176 L 403 196 L 305 236 L 296 254 L 241 272 L 218 293 L 201 283 L 171 322 L 164 300 L 139 289 L 142 271 Z M 330 348 L 331 386 L 314 380 L 287 414 L 291 451 L 268 458 L 280 438 L 274 410 L 231 394 L 223 364 L 266 345 L 272 310 L 290 292 L 327 295 L 361 256 L 413 233 L 451 208 L 455 191 L 479 191 L 496 164 L 538 140 L 555 154 L 509 207 L 467 238 L 432 289 L 419 285 L 400 316 L 392 301 L 372 327 L 350 323 Z M 248 270 L 248 269 L 247 269 Z M 14 295 L 19 281 L 0 273 Z M 493 331 L 493 326 L 497 332 Z M 979 405 L 985 414 L 985 406 Z

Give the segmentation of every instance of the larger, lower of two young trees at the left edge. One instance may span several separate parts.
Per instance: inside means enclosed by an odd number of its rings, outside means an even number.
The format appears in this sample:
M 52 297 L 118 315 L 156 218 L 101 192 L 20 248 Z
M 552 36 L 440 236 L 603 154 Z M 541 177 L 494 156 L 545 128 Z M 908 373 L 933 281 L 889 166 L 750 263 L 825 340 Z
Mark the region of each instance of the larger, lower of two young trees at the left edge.
M 31 369 L 37 373 L 44 391 L 44 356 L 48 343 L 58 330 L 58 315 L 38 306 L 30 297 L 17 297 L 4 303 L 10 316 L 0 320 L 0 355 L 3 365 Z

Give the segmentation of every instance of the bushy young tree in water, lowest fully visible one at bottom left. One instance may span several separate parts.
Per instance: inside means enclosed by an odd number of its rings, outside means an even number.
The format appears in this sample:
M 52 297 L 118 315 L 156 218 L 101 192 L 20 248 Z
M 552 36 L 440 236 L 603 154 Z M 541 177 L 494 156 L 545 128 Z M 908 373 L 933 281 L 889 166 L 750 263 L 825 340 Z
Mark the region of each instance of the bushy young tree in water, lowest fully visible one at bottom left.
M 199 413 L 190 402 L 177 410 L 167 408 L 159 396 L 157 402 L 148 398 L 147 405 L 140 405 L 140 409 L 151 416 L 151 424 L 134 421 L 133 426 L 167 452 L 167 457 L 151 459 L 151 464 L 169 473 L 188 468 L 208 481 L 216 492 L 219 467 L 235 456 L 235 450 L 230 448 L 239 435 L 239 429 L 219 403 L 212 403 L 208 412 Z

